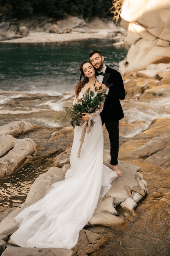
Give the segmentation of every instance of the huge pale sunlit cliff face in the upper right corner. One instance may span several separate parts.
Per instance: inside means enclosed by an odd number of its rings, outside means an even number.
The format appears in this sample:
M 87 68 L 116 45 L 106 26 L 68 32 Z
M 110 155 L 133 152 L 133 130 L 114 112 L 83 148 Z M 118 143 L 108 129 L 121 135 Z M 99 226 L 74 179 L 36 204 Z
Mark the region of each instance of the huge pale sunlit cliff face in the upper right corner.
M 145 69 L 151 63 L 170 63 L 169 17 L 169 0 L 125 0 L 121 25 L 128 22 L 125 41 L 131 47 L 119 63 L 122 74 Z

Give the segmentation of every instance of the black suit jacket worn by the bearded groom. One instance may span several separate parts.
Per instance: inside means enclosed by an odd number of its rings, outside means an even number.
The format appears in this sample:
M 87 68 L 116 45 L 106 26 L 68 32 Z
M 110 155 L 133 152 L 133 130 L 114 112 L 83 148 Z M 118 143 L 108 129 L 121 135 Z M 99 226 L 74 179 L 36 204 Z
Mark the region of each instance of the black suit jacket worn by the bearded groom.
M 124 112 L 121 108 L 120 99 L 125 99 L 124 82 L 121 74 L 107 66 L 103 82 L 109 88 L 108 95 L 104 102 L 104 108 L 101 112 L 103 123 L 111 123 L 118 121 L 124 117 Z

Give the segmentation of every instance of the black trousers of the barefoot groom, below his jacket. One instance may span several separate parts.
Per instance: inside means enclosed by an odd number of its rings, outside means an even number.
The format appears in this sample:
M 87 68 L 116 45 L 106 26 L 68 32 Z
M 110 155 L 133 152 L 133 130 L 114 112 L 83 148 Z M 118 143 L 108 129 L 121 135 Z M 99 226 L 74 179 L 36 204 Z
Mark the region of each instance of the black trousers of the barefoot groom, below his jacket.
M 117 165 L 119 153 L 119 121 L 105 123 L 110 139 L 110 164 Z

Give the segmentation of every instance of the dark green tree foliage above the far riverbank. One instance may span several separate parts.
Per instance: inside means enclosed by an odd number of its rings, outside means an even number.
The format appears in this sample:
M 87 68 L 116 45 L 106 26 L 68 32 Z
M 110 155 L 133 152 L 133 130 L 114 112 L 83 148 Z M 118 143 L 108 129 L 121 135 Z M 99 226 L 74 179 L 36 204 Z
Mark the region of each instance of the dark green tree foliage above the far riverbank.
M 0 0 L 0 13 L 15 18 L 46 15 L 56 20 L 65 15 L 112 17 L 112 0 Z

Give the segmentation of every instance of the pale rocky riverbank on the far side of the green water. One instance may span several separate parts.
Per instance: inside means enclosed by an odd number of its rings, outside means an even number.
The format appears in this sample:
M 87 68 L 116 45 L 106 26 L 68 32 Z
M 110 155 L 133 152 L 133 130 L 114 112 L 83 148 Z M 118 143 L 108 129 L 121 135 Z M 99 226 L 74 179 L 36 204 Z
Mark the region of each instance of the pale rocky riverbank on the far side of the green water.
M 18 29 L 19 27 L 19 29 Z M 20 22 L 0 23 L 1 43 L 51 43 L 84 40 L 89 38 L 115 38 L 115 43 L 126 36 L 126 30 L 112 20 L 95 17 L 88 22 L 83 18 L 68 16 L 64 20 L 39 17 Z

